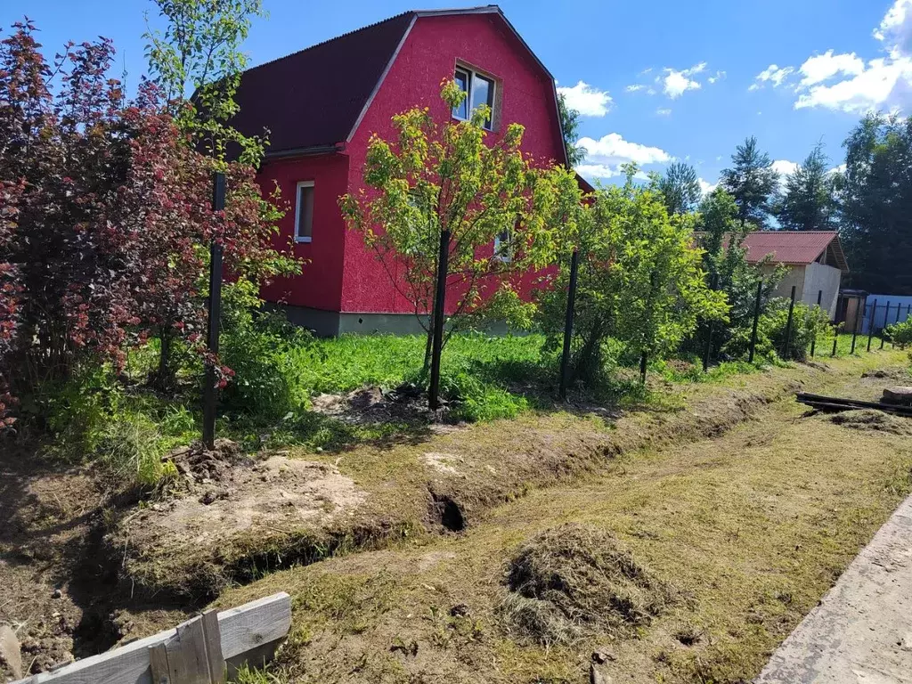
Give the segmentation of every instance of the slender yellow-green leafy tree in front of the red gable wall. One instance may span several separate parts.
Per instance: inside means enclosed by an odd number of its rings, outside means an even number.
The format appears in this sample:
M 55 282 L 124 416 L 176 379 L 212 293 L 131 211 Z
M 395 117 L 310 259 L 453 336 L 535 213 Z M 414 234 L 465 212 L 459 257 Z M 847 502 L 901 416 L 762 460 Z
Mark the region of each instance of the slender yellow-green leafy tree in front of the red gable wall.
M 452 81 L 441 84 L 440 94 L 448 110 L 465 97 Z M 455 298 L 448 302 L 444 343 L 486 316 L 528 322 L 516 281 L 544 265 L 533 256 L 543 253 L 528 249 L 545 222 L 532 202 L 541 181 L 521 150 L 523 127 L 510 124 L 489 145 L 488 117 L 490 110 L 479 107 L 471 120 L 441 126 L 427 108 L 398 114 L 396 140 L 375 136 L 369 142 L 367 188 L 339 198 L 348 226 L 364 236 L 427 332 L 425 368 L 441 233 L 451 234 L 447 291 L 448 299 Z

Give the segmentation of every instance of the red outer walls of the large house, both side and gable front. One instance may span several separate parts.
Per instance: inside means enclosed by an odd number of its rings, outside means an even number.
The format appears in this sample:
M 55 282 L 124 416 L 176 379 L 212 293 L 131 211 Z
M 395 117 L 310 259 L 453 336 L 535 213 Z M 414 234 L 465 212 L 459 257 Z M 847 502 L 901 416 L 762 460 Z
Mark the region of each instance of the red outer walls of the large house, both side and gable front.
M 277 181 L 291 204 L 281 223 L 282 235 L 278 239 L 283 244 L 294 233 L 295 184 L 315 181 L 313 242 L 295 245 L 295 254 L 309 263 L 305 264 L 303 275 L 266 286 L 265 299 L 329 311 L 412 313 L 409 301 L 397 293 L 386 269 L 365 247 L 361 235 L 347 231 L 337 199 L 363 187 L 368 140 L 373 133 L 394 139 L 390 121 L 394 114 L 420 106 L 429 107 L 441 122 L 451 118 L 449 109 L 440 101 L 440 81 L 452 78 L 457 61 L 491 74 L 498 81 L 499 126 L 488 140 L 499 140 L 506 124 L 522 123 L 524 151 L 543 164 L 564 161 L 553 85 L 503 20 L 496 15 L 421 17 L 343 153 L 264 165 L 260 174 L 264 191 L 269 192 L 273 181 Z M 523 277 L 524 285 L 533 279 L 533 275 Z M 452 309 L 458 296 L 451 288 L 448 309 Z

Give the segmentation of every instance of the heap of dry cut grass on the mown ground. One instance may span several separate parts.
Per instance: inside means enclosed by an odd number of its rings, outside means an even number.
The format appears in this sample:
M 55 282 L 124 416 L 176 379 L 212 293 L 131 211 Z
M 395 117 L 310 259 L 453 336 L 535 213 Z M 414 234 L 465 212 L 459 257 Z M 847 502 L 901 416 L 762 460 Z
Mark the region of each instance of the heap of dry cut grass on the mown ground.
M 604 530 L 568 523 L 538 534 L 513 556 L 507 625 L 545 646 L 594 631 L 625 636 L 673 603 L 675 592 Z

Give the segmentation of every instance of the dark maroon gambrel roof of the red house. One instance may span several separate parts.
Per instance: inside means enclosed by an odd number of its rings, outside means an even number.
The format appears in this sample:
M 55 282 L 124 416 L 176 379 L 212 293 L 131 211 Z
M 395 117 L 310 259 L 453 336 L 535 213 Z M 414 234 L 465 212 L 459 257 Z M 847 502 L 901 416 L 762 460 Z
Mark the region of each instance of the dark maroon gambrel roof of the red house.
M 451 15 L 499 16 L 554 84 L 554 77 L 497 5 L 411 10 L 247 69 L 236 95 L 240 111 L 233 126 L 247 135 L 269 129 L 267 157 L 334 150 L 358 130 L 415 21 Z M 552 89 L 556 110 L 557 91 L 554 85 Z

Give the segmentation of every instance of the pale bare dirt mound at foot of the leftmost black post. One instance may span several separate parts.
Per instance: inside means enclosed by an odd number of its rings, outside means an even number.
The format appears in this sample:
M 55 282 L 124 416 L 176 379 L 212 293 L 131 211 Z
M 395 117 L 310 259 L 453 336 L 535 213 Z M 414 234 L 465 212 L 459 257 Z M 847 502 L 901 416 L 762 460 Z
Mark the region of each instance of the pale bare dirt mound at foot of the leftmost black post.
M 223 445 L 177 454 L 183 489 L 126 516 L 106 544 L 120 549 L 134 589 L 208 598 L 241 572 L 262 572 L 365 499 L 325 463 L 273 455 L 254 460 Z M 304 553 L 304 552 L 302 552 Z M 294 560 L 288 558 L 286 560 Z

